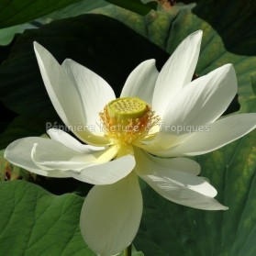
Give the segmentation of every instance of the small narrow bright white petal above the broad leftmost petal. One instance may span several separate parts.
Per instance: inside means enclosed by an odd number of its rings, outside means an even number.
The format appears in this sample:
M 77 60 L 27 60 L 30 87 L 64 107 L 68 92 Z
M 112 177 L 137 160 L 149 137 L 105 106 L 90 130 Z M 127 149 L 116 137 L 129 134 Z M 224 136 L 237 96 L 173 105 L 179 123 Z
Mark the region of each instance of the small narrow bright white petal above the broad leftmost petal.
M 61 142 L 66 147 L 81 152 L 81 153 L 93 153 L 98 150 L 105 150 L 104 147 L 95 147 L 91 145 L 84 145 L 77 139 L 74 139 L 70 134 L 57 128 L 50 128 L 47 130 L 50 139 Z

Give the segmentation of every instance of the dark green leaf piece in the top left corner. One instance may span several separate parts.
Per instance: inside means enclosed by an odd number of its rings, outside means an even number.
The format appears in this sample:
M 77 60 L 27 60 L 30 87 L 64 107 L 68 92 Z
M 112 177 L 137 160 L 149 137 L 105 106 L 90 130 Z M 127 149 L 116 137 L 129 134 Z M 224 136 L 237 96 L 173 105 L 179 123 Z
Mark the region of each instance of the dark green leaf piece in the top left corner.
M 69 6 L 79 0 L 1 0 L 0 28 L 24 23 L 36 17 L 49 14 L 61 7 Z

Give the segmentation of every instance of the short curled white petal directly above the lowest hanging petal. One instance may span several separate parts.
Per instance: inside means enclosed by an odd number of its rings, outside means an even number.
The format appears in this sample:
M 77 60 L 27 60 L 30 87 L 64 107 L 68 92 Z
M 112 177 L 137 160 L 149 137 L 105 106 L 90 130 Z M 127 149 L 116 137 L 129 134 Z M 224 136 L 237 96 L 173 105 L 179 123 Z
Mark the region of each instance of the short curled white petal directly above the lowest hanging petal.
M 88 184 L 114 184 L 130 173 L 135 166 L 135 159 L 127 155 L 106 163 L 88 165 L 80 172 L 69 172 L 71 176 Z

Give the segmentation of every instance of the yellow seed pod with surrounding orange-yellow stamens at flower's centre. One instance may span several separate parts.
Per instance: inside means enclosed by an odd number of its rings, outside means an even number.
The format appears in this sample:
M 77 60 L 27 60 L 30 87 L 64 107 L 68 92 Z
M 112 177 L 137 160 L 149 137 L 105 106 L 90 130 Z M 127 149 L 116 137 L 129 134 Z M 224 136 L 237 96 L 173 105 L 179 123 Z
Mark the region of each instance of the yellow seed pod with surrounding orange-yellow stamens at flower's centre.
M 100 113 L 106 137 L 120 148 L 130 148 L 141 139 L 152 136 L 150 129 L 160 118 L 150 106 L 137 97 L 117 98 Z

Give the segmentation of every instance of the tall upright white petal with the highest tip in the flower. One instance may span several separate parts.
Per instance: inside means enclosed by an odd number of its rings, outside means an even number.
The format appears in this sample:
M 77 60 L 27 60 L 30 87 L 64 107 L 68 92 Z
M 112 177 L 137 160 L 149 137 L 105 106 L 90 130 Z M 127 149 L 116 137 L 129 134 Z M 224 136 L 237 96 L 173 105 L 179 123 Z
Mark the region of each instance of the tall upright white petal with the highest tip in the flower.
M 199 56 L 201 39 L 202 30 L 188 36 L 162 67 L 152 101 L 153 109 L 160 117 L 184 85 L 191 82 Z

